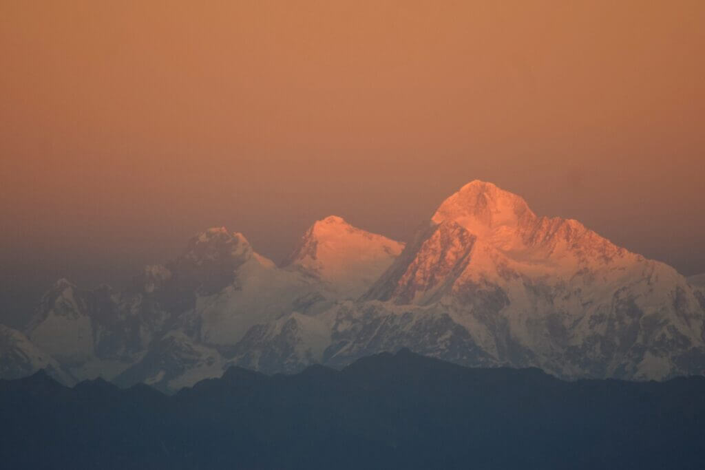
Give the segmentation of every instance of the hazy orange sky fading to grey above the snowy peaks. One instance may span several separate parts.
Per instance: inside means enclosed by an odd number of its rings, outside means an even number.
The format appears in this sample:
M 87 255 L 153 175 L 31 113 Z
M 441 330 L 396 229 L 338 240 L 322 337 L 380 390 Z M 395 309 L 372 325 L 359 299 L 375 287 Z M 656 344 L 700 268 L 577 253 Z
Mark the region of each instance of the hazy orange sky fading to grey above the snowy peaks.
M 211 225 L 405 240 L 475 178 L 705 271 L 704 51 L 703 1 L 2 1 L 0 320 Z

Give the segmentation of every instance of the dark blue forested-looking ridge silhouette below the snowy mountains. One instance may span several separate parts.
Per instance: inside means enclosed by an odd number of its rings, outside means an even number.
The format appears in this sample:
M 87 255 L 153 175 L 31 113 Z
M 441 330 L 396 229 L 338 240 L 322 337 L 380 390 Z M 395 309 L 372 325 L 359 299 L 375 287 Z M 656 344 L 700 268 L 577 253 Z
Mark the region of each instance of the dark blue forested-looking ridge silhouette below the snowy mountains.
M 702 469 L 705 378 L 566 382 L 400 350 L 176 395 L 0 381 L 6 469 Z

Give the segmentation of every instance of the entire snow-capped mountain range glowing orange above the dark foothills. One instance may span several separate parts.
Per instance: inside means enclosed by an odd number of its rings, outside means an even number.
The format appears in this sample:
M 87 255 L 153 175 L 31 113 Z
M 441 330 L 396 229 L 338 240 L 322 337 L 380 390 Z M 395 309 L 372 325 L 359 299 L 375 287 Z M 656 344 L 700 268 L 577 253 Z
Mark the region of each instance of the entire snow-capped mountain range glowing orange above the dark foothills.
M 0 376 L 175 392 L 402 347 L 571 380 L 704 375 L 705 282 L 476 180 L 406 244 L 330 216 L 277 265 L 211 228 L 128 289 L 59 280 L 23 331 L 0 328 Z

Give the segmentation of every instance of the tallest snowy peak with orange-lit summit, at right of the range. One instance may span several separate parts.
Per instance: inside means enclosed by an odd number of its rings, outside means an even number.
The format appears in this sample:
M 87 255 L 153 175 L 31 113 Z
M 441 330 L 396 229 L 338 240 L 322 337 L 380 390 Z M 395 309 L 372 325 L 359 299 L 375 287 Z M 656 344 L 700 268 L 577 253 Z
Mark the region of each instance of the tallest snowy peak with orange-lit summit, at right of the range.
M 489 183 L 446 199 L 367 298 L 443 309 L 498 364 L 568 378 L 705 367 L 703 308 L 685 278 Z

